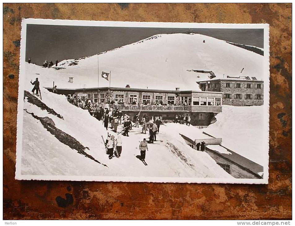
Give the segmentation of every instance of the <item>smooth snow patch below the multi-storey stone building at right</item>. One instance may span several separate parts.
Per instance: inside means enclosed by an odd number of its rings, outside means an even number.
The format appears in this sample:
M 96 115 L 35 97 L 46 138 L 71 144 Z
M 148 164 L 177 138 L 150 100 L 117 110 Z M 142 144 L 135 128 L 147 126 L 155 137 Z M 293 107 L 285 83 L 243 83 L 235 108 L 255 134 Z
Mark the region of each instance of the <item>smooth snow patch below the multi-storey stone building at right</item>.
M 215 117 L 217 121 L 203 131 L 222 137 L 223 146 L 263 166 L 263 106 L 223 105 Z

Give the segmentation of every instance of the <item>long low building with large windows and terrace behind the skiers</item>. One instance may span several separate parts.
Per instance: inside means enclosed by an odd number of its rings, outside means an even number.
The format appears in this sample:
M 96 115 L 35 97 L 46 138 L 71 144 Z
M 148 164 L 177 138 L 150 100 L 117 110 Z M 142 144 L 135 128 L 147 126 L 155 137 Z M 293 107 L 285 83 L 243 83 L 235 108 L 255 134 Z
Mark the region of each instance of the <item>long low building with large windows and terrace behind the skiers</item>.
M 52 91 L 52 88 L 46 88 Z M 131 119 L 141 111 L 142 115 L 162 116 L 163 120 L 174 120 L 175 115 L 191 117 L 191 124 L 204 128 L 215 120 L 214 116 L 222 111 L 222 93 L 213 91 L 180 91 L 159 89 L 136 89 L 119 87 L 57 89 L 58 94 L 70 98 L 90 99 L 92 102 L 105 103 L 110 97 L 114 105 Z M 137 104 L 132 104 L 136 102 Z M 186 103 L 185 103 L 186 102 Z M 110 104 L 108 104 L 110 106 Z

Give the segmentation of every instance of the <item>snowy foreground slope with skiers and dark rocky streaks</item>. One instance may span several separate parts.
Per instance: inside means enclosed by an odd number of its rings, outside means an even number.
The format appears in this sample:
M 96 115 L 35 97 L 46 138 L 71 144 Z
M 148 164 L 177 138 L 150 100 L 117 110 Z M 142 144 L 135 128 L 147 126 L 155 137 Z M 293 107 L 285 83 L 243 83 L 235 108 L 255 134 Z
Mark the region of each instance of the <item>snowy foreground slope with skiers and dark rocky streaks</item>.
M 28 79 L 33 79 L 34 74 L 32 71 Z M 25 89 L 31 88 L 30 83 L 26 83 Z M 232 178 L 208 154 L 189 147 L 176 132 L 179 130 L 180 133 L 201 136 L 200 130 L 173 123 L 161 127 L 163 132 L 158 135 L 157 140 L 163 142 L 158 141 L 159 144 L 149 145 L 149 151 L 146 153 L 148 166 L 136 158 L 140 154 L 139 142 L 148 136 L 140 133 L 141 128 L 133 129 L 130 137 L 122 136 L 121 157 L 109 160 L 101 137 L 106 139 L 107 135 L 102 121 L 96 120 L 87 110 L 68 103 L 63 95 L 50 93 L 44 88 L 41 88 L 41 92 L 42 102 L 62 115 L 64 119 L 41 110 L 29 103 L 27 99 L 24 102 L 24 109 L 39 117 L 51 118 L 58 129 L 70 134 L 83 146 L 88 147 L 89 150 L 85 151 L 107 167 L 59 142 L 43 128 L 40 121 L 24 111 L 21 158 L 24 175 Z M 116 135 L 113 132 L 110 133 Z

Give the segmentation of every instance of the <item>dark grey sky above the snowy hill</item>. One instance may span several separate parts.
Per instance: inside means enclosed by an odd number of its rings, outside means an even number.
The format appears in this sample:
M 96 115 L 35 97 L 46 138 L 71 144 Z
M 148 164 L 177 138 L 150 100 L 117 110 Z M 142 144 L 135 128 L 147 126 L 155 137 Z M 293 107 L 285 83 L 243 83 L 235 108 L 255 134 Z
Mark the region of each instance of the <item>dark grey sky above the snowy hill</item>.
M 77 59 L 128 45 L 156 34 L 193 32 L 263 48 L 263 29 L 132 28 L 27 24 L 26 61 L 42 65 Z

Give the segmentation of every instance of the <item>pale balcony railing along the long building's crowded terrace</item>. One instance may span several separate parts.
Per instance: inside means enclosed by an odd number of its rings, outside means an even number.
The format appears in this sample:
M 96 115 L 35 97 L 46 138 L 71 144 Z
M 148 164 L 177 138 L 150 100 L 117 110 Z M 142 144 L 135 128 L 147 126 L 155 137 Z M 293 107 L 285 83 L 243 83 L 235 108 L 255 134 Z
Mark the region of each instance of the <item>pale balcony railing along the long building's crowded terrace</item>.
M 113 108 L 118 108 L 121 111 L 163 111 L 163 112 L 190 112 L 192 111 L 192 106 L 182 106 L 182 105 L 124 105 L 124 104 L 104 104 L 105 106 L 112 106 Z

